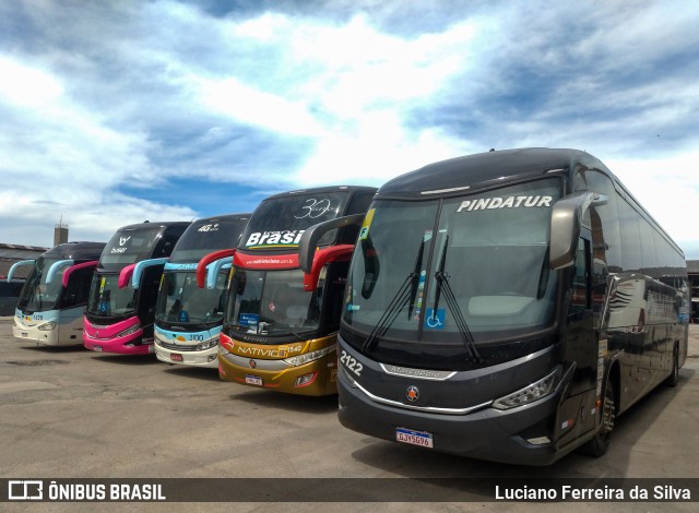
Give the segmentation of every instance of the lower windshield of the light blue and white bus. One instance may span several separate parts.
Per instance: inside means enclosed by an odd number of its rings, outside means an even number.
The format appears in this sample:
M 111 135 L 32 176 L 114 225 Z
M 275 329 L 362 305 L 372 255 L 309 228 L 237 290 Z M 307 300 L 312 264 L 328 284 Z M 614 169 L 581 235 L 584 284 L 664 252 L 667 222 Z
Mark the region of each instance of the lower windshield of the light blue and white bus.
M 165 271 L 155 319 L 178 324 L 208 324 L 223 320 L 227 272 L 216 277 L 214 289 L 199 288 L 194 272 Z

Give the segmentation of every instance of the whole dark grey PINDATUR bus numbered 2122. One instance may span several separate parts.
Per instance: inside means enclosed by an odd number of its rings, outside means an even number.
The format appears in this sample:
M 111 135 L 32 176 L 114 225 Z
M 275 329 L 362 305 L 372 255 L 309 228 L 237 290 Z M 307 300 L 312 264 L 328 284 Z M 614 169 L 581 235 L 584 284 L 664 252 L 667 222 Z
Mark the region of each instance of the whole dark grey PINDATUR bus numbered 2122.
M 301 239 L 309 269 L 315 241 Z M 381 187 L 352 258 L 339 417 L 374 437 L 547 465 L 606 452 L 687 358 L 680 249 L 595 157 L 488 152 Z

